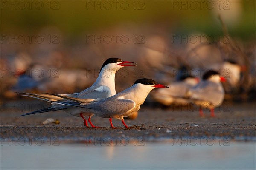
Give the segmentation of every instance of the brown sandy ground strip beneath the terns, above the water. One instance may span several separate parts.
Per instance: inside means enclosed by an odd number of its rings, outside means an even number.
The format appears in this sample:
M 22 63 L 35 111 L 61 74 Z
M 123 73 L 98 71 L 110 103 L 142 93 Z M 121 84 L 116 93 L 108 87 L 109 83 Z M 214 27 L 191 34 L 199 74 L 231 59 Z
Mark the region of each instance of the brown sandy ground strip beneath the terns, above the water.
M 143 140 L 169 139 L 173 137 L 228 137 L 230 139 L 256 139 L 256 105 L 250 103 L 224 103 L 215 109 L 215 118 L 204 110 L 205 116 L 199 117 L 198 109 L 191 106 L 161 108 L 143 105 L 135 120 L 125 120 L 130 129 L 122 122 L 113 120 L 117 129 L 111 129 L 108 119 L 92 117 L 92 122 L 102 128 L 86 128 L 83 120 L 64 111 L 40 113 L 17 117 L 35 109 L 47 106 L 41 101 L 15 101 L 2 103 L 0 113 L 1 138 L 19 137 L 57 137 L 62 140 L 79 138 L 135 138 Z M 47 118 L 58 119 L 60 124 L 42 125 Z M 195 125 L 198 126 L 195 126 Z

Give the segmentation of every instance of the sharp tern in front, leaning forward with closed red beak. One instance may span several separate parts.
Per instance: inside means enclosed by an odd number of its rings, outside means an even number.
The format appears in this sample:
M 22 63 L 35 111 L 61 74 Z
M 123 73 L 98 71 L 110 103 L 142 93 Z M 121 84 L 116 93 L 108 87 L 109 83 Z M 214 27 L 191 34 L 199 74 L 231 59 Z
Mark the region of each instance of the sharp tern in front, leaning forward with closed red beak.
M 128 126 L 125 124 L 123 118 L 130 116 L 134 111 L 138 111 L 140 109 L 140 105 L 144 103 L 149 92 L 154 88 L 169 87 L 157 84 L 157 82 L 154 80 L 144 78 L 136 80 L 134 85 L 132 85 L 130 88 L 127 88 L 124 91 L 106 99 L 95 99 L 92 102 L 86 102 L 84 99 L 57 95 L 64 99 L 73 100 L 77 103 L 74 104 L 61 101 L 57 101 L 56 103 L 68 106 L 76 106 L 83 108 L 83 112 L 93 112 L 99 117 L 109 118 L 111 128 L 113 129 L 116 127 L 114 127 L 112 124 L 112 118 L 119 119 L 128 129 Z

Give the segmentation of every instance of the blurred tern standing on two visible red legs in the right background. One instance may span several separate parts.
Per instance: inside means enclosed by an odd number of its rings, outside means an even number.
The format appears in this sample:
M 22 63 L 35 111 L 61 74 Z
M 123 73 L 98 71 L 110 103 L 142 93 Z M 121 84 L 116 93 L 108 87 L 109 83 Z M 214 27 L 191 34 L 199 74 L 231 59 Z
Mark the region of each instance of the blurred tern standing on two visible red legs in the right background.
M 189 90 L 190 99 L 200 107 L 200 116 L 203 116 L 202 108 L 208 108 L 211 110 L 211 117 L 215 117 L 214 108 L 221 105 L 224 99 L 221 81 L 225 80 L 217 71 L 209 70 L 204 73 L 202 81 Z

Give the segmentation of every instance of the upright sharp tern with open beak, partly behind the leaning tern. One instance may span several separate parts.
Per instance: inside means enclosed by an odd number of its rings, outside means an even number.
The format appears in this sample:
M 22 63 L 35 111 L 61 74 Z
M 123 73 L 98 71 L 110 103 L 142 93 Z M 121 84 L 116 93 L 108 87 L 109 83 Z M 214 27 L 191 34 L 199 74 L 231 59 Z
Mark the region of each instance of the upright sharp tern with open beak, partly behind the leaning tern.
M 60 94 L 59 96 L 82 98 L 82 99 L 85 99 L 86 101 L 93 101 L 93 99 L 97 99 L 97 98 L 105 99 L 110 96 L 113 96 L 116 94 L 116 88 L 115 88 L 116 71 L 118 71 L 123 66 L 134 66 L 129 63 L 135 64 L 134 62 L 122 61 L 119 58 L 109 58 L 103 63 L 100 69 L 98 78 L 90 88 L 87 88 L 84 91 L 81 91 L 80 93 Z M 69 102 L 67 99 L 63 99 L 61 97 L 54 96 L 52 94 L 30 94 L 30 93 L 21 93 L 21 94 L 23 94 L 23 96 L 29 96 L 29 97 L 41 99 L 47 102 L 51 102 L 52 106 L 48 108 L 43 108 L 37 111 L 33 111 L 30 113 L 26 113 L 20 116 L 49 112 L 49 111 L 64 110 L 65 112 L 70 113 L 73 116 L 81 117 L 84 120 L 84 126 L 86 127 L 89 127 L 89 126 L 84 116 L 89 116 L 88 122 L 93 128 L 96 127 L 90 121 L 90 118 L 93 116 L 92 112 L 90 111 L 84 112 L 81 110 L 81 108 L 71 107 L 67 105 L 64 106 L 64 105 L 59 105 L 54 103 L 55 101 Z M 88 100 L 87 98 L 90 98 L 90 99 Z

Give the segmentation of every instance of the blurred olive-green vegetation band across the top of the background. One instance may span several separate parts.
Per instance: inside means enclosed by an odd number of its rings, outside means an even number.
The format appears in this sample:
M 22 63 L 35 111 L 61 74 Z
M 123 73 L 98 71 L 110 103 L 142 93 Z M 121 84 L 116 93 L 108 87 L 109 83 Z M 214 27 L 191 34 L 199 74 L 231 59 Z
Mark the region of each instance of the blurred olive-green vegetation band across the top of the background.
M 215 15 L 218 12 L 222 13 L 223 18 L 230 15 L 226 23 L 231 35 L 244 40 L 255 38 L 255 0 L 1 0 L 0 31 L 1 34 L 34 33 L 41 27 L 53 25 L 69 39 L 76 39 L 84 31 L 131 22 L 137 25 L 160 25 L 180 34 L 203 31 L 220 35 L 221 26 Z

